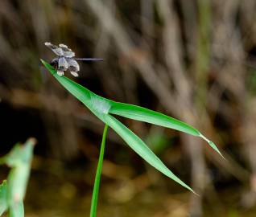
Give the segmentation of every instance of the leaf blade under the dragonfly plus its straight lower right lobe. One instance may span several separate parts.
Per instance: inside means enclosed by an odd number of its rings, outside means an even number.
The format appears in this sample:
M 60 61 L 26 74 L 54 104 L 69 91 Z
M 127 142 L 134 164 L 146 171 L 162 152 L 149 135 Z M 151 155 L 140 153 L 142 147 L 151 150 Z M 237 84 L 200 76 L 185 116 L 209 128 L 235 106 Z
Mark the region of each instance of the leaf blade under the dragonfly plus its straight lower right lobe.
M 126 128 L 120 121 L 115 119 L 114 117 L 109 115 L 109 109 L 111 108 L 111 100 L 107 100 L 101 96 L 97 96 L 93 92 L 90 92 L 87 88 L 82 87 L 79 84 L 76 84 L 74 81 L 69 80 L 65 76 L 58 76 L 56 70 L 52 68 L 51 65 L 44 62 L 43 64 L 46 68 L 56 77 L 56 79 L 66 88 L 72 95 L 76 96 L 78 100 L 81 100 L 85 106 L 90 109 L 101 121 L 103 121 L 106 125 L 109 125 L 120 137 L 126 141 L 130 148 L 134 149 L 134 151 L 140 155 L 145 161 L 154 166 L 157 170 L 166 174 L 169 178 L 172 178 L 175 182 L 180 183 L 180 185 L 184 186 L 188 190 L 192 190 L 191 187 L 186 185 L 184 182 L 177 178 L 175 174 L 171 172 L 161 162 L 161 160 L 148 148 L 148 146 L 130 129 Z M 85 96 L 83 96 L 85 94 Z

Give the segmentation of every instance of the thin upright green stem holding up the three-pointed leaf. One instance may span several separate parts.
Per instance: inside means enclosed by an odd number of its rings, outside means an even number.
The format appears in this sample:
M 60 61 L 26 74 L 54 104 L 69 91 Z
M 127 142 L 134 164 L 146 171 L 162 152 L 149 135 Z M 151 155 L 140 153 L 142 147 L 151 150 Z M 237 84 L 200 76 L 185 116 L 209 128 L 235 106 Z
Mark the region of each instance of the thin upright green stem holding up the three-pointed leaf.
M 99 161 L 97 163 L 97 171 L 96 171 L 95 181 L 93 186 L 93 197 L 92 197 L 92 203 L 91 203 L 90 217 L 96 217 L 97 198 L 98 198 L 100 182 L 101 182 L 101 168 L 102 168 L 102 163 L 104 158 L 105 139 L 108 132 L 108 127 L 109 127 L 108 125 L 105 125 L 105 128 L 103 130 L 102 141 L 101 141 L 101 151 L 100 151 Z

